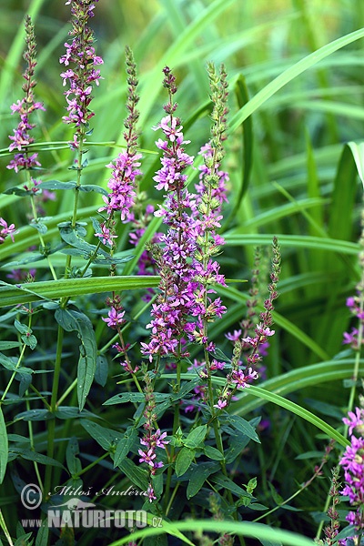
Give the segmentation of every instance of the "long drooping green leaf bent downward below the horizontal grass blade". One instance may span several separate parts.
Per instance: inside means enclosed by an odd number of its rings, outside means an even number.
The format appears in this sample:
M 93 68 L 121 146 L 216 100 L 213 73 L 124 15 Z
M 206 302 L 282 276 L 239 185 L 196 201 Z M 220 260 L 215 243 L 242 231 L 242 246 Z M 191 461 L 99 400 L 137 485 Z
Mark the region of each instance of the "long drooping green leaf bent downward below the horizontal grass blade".
M 91 389 L 96 372 L 96 338 L 91 320 L 84 313 L 73 309 L 57 308 L 56 321 L 66 331 L 77 331 L 81 340 L 80 357 L 77 368 L 77 399 L 82 410 Z

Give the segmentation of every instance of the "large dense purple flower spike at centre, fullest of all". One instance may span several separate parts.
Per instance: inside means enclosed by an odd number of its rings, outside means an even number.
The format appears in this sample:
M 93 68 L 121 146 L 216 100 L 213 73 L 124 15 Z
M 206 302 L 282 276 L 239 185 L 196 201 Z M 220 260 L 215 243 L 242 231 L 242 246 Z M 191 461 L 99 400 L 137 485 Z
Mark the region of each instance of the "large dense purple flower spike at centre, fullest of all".
M 167 192 L 163 207 L 155 212 L 162 217 L 167 226 L 167 234 L 159 240 L 162 247 L 152 245 L 152 255 L 156 261 L 159 275 L 160 293 L 152 306 L 152 320 L 147 325 L 151 329 L 149 343 L 142 343 L 141 350 L 150 361 L 153 357 L 181 357 L 181 342 L 185 334 L 187 315 L 193 302 L 194 270 L 191 257 L 196 250 L 197 223 L 189 211 L 196 207 L 195 200 L 187 191 L 185 170 L 193 164 L 193 157 L 185 152 L 183 126 L 175 116 L 177 104 L 173 96 L 177 91 L 175 76 L 168 67 L 164 69 L 164 86 L 168 89 L 169 102 L 164 106 L 167 116 L 154 127 L 162 129 L 165 140 L 159 138 L 157 147 L 163 151 L 162 167 L 154 180 L 157 189 Z M 183 353 L 187 354 L 187 353 Z

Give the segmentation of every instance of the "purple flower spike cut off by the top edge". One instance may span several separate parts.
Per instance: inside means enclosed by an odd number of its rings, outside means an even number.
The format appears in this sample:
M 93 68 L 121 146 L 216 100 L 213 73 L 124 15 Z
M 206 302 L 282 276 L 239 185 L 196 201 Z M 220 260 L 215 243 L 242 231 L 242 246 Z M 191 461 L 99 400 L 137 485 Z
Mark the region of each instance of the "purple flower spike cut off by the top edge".
M 63 120 L 77 127 L 74 141 L 70 143 L 75 149 L 81 141 L 84 142 L 85 128 L 88 128 L 88 121 L 94 116 L 89 108 L 93 99 L 91 93 L 93 85 L 98 86 L 101 78 L 100 70 L 95 66 L 101 65 L 103 60 L 96 56 L 94 32 L 87 25 L 88 20 L 94 16 L 94 0 L 68 0 L 66 5 L 71 5 L 72 14 L 72 29 L 68 35 L 74 38 L 71 44 L 66 42 L 66 54 L 61 56 L 59 62 L 66 66 L 66 71 L 61 74 L 63 85 L 66 86 L 67 82 L 69 84 L 64 94 L 68 114 Z

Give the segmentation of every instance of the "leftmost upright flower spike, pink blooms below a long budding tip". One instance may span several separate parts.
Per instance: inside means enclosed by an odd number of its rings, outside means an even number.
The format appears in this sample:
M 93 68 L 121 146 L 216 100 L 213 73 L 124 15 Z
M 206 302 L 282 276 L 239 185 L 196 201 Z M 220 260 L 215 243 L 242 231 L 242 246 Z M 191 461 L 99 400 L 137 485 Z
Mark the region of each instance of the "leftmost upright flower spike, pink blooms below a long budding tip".
M 35 44 L 35 32 L 34 25 L 29 15 L 25 16 L 25 43 L 26 49 L 24 59 L 26 62 L 25 73 L 23 75 L 25 84 L 22 89 L 25 96 L 11 106 L 12 114 L 17 113 L 20 116 L 18 126 L 14 129 L 14 136 L 9 136 L 12 140 L 9 146 L 9 151 L 17 149 L 19 153 L 15 154 L 14 158 L 10 161 L 7 168 L 14 168 L 15 173 L 21 169 L 31 169 L 40 167 L 38 161 L 38 154 L 29 154 L 28 147 L 33 144 L 35 139 L 30 136 L 30 131 L 35 128 L 35 124 L 30 123 L 30 116 L 36 110 L 45 110 L 43 103 L 35 102 L 34 88 L 36 86 L 36 80 L 34 78 L 35 66 L 36 66 L 36 44 Z

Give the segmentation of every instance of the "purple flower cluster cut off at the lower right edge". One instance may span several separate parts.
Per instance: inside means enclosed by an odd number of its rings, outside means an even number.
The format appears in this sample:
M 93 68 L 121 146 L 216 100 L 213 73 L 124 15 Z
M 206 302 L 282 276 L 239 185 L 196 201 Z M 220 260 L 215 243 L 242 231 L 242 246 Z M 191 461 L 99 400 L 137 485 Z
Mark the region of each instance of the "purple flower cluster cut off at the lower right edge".
M 347 521 L 355 526 L 358 534 L 364 532 L 364 409 L 349 411 L 349 417 L 343 419 L 349 426 L 350 445 L 339 460 L 344 469 L 345 487 L 340 493 L 349 497 L 349 503 L 355 511 L 349 511 Z M 357 430 L 357 438 L 353 431 Z

